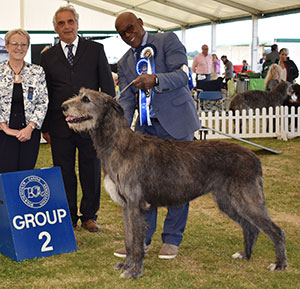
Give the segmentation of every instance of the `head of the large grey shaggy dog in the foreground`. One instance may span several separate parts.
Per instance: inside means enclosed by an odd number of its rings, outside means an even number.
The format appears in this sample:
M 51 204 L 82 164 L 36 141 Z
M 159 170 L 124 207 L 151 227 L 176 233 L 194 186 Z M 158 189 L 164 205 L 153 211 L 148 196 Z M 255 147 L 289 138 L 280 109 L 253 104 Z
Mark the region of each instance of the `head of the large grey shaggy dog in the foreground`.
M 121 106 L 108 94 L 81 88 L 78 95 L 61 105 L 68 126 L 77 132 L 96 129 L 112 111 L 124 115 Z

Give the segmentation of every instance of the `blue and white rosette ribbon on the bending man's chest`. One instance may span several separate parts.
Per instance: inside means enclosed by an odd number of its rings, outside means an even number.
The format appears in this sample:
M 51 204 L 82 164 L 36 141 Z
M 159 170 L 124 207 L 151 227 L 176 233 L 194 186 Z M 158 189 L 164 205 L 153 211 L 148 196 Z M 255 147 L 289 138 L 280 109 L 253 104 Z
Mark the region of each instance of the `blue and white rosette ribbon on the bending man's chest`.
M 143 73 L 154 74 L 155 73 L 155 62 L 154 57 L 156 54 L 156 48 L 152 44 L 146 44 L 137 50 L 137 57 L 139 58 L 135 69 L 137 75 Z M 147 91 L 139 91 L 139 115 L 140 115 L 140 125 L 145 124 L 151 126 L 151 102 L 154 98 L 154 91 L 149 89 Z

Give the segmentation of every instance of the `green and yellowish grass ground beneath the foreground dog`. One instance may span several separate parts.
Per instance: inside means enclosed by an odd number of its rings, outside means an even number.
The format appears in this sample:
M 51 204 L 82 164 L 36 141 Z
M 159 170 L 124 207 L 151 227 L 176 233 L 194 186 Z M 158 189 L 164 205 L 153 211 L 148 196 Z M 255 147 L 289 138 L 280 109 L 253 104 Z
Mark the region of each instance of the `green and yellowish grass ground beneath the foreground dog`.
M 124 244 L 121 212 L 103 190 L 98 212 L 100 233 L 77 229 L 78 251 L 74 253 L 20 263 L 0 255 L 0 288 L 300 288 L 300 139 L 252 141 L 282 152 L 274 155 L 248 146 L 262 161 L 269 213 L 287 234 L 286 271 L 266 270 L 274 262 L 275 252 L 263 233 L 250 261 L 233 260 L 231 255 L 243 247 L 242 232 L 216 209 L 211 196 L 205 196 L 191 203 L 176 259 L 157 258 L 166 214 L 165 209 L 159 209 L 158 228 L 144 260 L 143 277 L 121 279 L 114 269 L 119 260 L 113 256 Z M 42 144 L 37 168 L 51 166 L 49 146 Z

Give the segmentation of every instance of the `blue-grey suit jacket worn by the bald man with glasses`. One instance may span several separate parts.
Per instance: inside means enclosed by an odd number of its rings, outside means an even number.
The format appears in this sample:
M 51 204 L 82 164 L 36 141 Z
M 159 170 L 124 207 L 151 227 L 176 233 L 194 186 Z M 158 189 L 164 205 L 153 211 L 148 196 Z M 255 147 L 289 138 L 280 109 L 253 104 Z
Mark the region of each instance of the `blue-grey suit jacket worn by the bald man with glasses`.
M 149 34 L 147 43 L 156 47 L 153 110 L 163 128 L 174 138 L 182 139 L 200 128 L 194 100 L 188 88 L 188 77 L 181 69 L 187 65 L 185 47 L 173 32 Z M 133 50 L 129 49 L 118 62 L 120 89 L 137 77 Z M 138 88 L 132 85 L 119 99 L 129 124 L 138 100 Z M 142 130 L 137 123 L 137 130 Z

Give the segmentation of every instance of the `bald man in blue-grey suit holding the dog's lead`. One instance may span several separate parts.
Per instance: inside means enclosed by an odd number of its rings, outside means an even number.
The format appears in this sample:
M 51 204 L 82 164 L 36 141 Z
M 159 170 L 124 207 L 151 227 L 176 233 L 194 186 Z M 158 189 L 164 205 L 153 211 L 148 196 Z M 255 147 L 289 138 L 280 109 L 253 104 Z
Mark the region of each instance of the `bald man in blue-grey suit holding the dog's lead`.
M 146 91 L 152 99 L 148 107 L 149 114 L 145 124 L 137 121 L 136 130 L 159 138 L 192 140 L 194 132 L 200 128 L 200 121 L 188 88 L 185 47 L 174 33 L 148 34 L 143 28 L 142 19 L 130 12 L 120 14 L 115 27 L 123 41 L 131 46 L 118 62 L 120 89 L 134 81 L 134 85 L 124 91 L 119 99 L 129 125 L 141 102 L 139 95 Z M 137 73 L 136 63 L 139 62 L 141 51 L 149 49 L 152 50 L 151 68 L 155 73 L 149 73 L 148 70 L 147 73 L 140 74 L 139 68 Z M 179 208 L 168 208 L 159 258 L 171 259 L 177 256 L 188 209 L 188 203 Z M 146 246 L 150 244 L 156 230 L 156 219 L 157 210 L 147 213 L 149 229 L 145 239 Z M 114 254 L 125 257 L 126 253 L 126 249 L 121 248 Z

